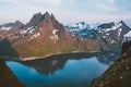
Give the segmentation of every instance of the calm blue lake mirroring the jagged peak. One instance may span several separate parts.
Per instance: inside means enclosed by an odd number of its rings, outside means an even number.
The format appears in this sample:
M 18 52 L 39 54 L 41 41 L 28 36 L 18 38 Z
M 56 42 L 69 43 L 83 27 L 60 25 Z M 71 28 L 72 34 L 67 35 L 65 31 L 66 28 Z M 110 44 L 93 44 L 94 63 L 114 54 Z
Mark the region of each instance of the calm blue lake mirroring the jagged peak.
M 90 87 L 109 63 L 97 57 L 72 59 L 53 58 L 31 62 L 8 61 L 8 66 L 27 87 Z

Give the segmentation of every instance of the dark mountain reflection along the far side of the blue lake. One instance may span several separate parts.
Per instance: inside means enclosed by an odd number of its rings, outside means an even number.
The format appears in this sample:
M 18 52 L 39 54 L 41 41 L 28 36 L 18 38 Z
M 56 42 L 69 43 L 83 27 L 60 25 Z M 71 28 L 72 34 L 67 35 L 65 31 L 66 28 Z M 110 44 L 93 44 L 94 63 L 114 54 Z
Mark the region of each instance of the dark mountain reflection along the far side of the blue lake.
M 58 70 L 62 70 L 68 60 L 81 60 L 81 59 L 91 59 L 96 57 L 96 59 L 104 64 L 110 64 L 118 58 L 118 53 L 109 52 L 109 53 L 76 53 L 76 54 L 60 54 L 52 55 L 47 59 L 39 59 L 33 61 L 23 62 L 27 66 L 32 66 L 36 69 L 39 73 L 49 75 L 53 74 Z

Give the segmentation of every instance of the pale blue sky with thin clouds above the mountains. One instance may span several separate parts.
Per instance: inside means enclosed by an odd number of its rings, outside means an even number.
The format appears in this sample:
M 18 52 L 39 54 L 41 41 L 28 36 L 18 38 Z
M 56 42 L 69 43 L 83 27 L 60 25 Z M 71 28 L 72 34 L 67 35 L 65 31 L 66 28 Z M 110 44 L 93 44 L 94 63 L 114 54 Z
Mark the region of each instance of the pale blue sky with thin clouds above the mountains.
M 131 0 L 0 0 L 0 24 L 26 24 L 33 14 L 46 11 L 63 24 L 131 20 Z

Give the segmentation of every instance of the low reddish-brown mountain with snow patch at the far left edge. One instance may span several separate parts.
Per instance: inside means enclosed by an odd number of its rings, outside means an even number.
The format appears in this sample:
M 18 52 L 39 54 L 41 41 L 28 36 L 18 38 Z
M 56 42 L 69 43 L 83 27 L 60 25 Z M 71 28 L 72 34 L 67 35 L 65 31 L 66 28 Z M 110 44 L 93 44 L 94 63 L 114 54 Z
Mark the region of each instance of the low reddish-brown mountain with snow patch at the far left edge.
M 0 40 L 8 39 L 11 44 L 15 42 L 23 37 L 21 30 L 23 30 L 24 27 L 25 25 L 20 21 L 0 25 Z

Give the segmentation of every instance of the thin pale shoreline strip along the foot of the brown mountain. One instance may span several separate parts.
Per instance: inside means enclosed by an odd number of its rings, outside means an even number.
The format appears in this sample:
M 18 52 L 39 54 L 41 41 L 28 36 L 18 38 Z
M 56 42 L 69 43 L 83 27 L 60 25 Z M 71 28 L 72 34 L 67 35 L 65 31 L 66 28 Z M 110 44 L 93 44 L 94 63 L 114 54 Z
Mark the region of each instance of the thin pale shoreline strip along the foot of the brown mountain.
M 47 54 L 44 57 L 27 57 L 27 58 L 13 58 L 13 57 L 0 57 L 2 60 L 4 61 L 17 61 L 17 62 L 25 62 L 25 61 L 34 61 L 34 60 L 39 60 L 39 59 L 48 59 L 51 57 L 58 57 L 58 55 L 68 55 L 68 54 L 72 54 L 72 55 L 79 55 L 79 54 L 87 54 L 87 57 L 90 57 L 91 54 L 98 54 L 98 53 L 109 53 L 109 52 L 115 52 L 115 53 L 119 53 L 116 51 L 102 51 L 102 52 L 79 52 L 79 51 L 74 51 L 74 52 L 67 52 L 67 53 L 53 53 L 53 54 Z

